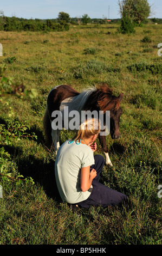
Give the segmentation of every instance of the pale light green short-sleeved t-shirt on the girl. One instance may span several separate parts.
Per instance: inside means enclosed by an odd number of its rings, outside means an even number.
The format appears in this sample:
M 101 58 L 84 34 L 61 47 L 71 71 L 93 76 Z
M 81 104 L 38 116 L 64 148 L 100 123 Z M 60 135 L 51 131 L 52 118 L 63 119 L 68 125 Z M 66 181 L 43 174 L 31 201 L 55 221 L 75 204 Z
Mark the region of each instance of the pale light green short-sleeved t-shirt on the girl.
M 89 191 L 80 187 L 81 168 L 94 164 L 94 154 L 86 144 L 64 142 L 59 148 L 55 161 L 56 183 L 63 201 L 75 204 L 86 200 Z

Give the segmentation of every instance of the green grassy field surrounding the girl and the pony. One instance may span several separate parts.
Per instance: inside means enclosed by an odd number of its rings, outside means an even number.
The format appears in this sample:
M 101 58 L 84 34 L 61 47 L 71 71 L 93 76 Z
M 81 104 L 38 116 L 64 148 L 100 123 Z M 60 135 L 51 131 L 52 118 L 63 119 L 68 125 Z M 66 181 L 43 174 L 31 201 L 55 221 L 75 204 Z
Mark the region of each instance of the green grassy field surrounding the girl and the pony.
M 9 96 L 1 103 L 6 129 L 17 121 L 29 125 L 28 132 L 37 139 L 12 138 L 7 145 L 6 137 L 1 137 L 1 173 L 17 179 L 0 175 L 0 244 L 161 244 L 162 198 L 157 188 L 162 184 L 162 57 L 157 46 L 162 25 L 136 28 L 131 36 L 119 34 L 117 28 L 71 25 L 68 32 L 0 32 L 5 76 L 38 93 L 34 99 Z M 129 205 L 74 213 L 55 198 L 55 156 L 44 144 L 42 125 L 47 95 L 58 84 L 80 92 L 102 83 L 116 96 L 124 91 L 124 99 L 121 138 L 107 137 L 113 168 L 104 166 L 101 182 L 127 194 Z M 62 142 L 69 137 L 70 132 L 61 132 Z M 103 155 L 99 143 L 96 154 Z M 18 173 L 30 176 L 35 184 L 20 182 L 24 178 Z

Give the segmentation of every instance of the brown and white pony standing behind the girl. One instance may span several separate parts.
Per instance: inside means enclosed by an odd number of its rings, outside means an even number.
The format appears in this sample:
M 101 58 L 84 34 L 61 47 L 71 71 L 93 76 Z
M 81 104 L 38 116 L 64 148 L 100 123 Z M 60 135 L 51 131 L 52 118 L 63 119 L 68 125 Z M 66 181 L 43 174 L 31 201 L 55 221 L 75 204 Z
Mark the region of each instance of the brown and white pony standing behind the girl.
M 103 111 L 103 115 L 106 111 L 110 111 L 111 137 L 112 139 L 118 139 L 121 136 L 119 121 L 122 114 L 120 102 L 123 96 L 123 93 L 120 93 L 118 97 L 114 96 L 113 90 L 106 84 L 102 84 L 99 87 L 87 88 L 80 93 L 69 85 L 54 87 L 48 94 L 47 107 L 43 117 L 46 144 L 50 146 L 54 144 L 56 152 L 60 147 L 59 136 L 61 130 L 52 129 L 51 124 L 55 119 L 55 117 L 52 117 L 52 113 L 53 111 L 62 111 L 64 106 L 68 106 L 69 111 Z M 108 155 L 106 136 L 100 136 L 99 134 L 99 142 L 105 154 L 105 163 L 113 166 Z

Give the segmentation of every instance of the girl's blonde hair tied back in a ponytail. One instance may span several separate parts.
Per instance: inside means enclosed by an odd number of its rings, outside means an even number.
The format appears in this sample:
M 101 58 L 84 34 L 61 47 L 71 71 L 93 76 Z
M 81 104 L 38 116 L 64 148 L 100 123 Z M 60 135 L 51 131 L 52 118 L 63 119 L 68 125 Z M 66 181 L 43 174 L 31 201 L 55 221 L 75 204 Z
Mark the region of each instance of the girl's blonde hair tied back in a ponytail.
M 79 130 L 77 130 L 73 141 L 79 139 L 88 139 L 100 132 L 100 122 L 98 119 L 90 118 L 86 119 L 80 124 Z

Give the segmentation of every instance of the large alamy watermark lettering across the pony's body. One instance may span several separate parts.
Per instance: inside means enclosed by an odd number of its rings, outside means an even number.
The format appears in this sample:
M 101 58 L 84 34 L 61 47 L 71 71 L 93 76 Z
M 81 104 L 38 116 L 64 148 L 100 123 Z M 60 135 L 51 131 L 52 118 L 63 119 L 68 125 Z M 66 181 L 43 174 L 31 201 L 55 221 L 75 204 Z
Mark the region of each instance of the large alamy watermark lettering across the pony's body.
M 86 119 L 97 119 L 100 123 L 100 135 L 107 136 L 110 132 L 110 111 L 106 111 L 105 114 L 103 111 L 79 111 L 73 110 L 69 111 L 68 106 L 63 108 L 63 111 L 55 110 L 51 114 L 52 118 L 55 118 L 51 127 L 53 130 L 79 130 L 80 124 L 84 123 Z M 85 128 L 86 129 L 86 128 Z M 98 129 L 98 127 L 96 127 Z

